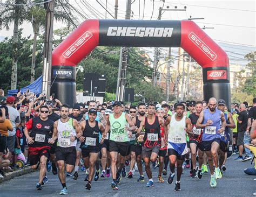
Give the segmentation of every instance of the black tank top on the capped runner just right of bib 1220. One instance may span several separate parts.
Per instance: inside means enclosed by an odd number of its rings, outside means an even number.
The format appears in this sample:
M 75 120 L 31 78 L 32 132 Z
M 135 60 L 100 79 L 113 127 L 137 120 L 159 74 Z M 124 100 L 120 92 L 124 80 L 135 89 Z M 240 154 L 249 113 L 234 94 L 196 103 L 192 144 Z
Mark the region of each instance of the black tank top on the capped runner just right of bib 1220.
M 98 121 L 95 121 L 95 127 L 91 127 L 89 125 L 89 121 L 86 120 L 86 125 L 83 130 L 83 137 L 85 137 L 84 142 L 81 144 L 81 148 L 86 147 L 99 147 L 99 138 L 101 136 L 100 130 L 99 130 L 99 124 Z

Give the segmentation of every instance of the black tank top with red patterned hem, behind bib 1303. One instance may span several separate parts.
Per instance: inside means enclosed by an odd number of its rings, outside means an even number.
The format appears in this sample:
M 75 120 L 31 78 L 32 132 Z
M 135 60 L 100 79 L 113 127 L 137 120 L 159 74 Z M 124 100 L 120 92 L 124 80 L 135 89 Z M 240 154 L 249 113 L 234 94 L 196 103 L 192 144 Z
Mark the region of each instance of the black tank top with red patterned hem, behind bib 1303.
M 158 139 L 157 140 L 148 140 L 147 136 L 148 134 L 157 134 Z M 160 134 L 160 124 L 158 121 L 158 117 L 154 119 L 153 124 L 149 124 L 147 122 L 147 117 L 145 118 L 145 136 L 144 136 L 144 146 L 145 147 L 153 147 L 153 146 L 161 146 L 161 134 Z

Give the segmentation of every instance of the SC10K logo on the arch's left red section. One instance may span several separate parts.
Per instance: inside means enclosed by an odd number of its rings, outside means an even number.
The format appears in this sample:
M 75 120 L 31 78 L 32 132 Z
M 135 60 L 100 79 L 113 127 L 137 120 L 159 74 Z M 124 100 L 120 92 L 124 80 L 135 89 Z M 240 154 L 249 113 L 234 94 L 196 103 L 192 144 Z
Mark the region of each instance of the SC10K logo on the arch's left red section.
M 89 31 L 84 32 L 80 38 L 78 38 L 75 43 L 70 45 L 70 47 L 62 53 L 64 58 L 70 58 L 72 54 L 74 54 L 81 46 L 83 46 L 86 41 L 88 41 L 92 37 L 92 33 Z

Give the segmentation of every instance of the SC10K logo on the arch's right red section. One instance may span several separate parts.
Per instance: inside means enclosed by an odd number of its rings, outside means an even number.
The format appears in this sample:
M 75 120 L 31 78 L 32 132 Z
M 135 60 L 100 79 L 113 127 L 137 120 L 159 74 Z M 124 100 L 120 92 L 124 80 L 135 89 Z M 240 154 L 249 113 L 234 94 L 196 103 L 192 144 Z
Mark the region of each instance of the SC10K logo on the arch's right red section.
M 188 38 L 203 51 L 208 58 L 214 61 L 217 58 L 216 53 L 214 53 L 210 47 L 208 47 L 194 32 L 188 35 Z

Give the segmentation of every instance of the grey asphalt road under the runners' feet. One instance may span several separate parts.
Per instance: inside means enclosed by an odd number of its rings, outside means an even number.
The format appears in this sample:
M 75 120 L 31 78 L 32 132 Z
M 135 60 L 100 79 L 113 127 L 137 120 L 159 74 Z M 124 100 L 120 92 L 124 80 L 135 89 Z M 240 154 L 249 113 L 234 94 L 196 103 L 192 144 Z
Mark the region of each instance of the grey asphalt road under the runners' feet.
M 146 182 L 137 182 L 138 171 L 133 179 L 123 178 L 118 186 L 118 191 L 110 188 L 110 178 L 100 178 L 97 182 L 92 182 L 92 189 L 85 189 L 84 172 L 79 171 L 77 180 L 72 177 L 66 178 L 69 196 L 253 196 L 256 192 L 256 181 L 252 175 L 246 175 L 244 168 L 252 167 L 250 161 L 234 161 L 236 155 L 228 158 L 227 170 L 223 178 L 217 180 L 217 187 L 210 186 L 210 173 L 203 174 L 202 179 L 190 178 L 189 169 L 184 169 L 181 176 L 181 191 L 174 191 L 175 184 L 168 185 L 167 176 L 164 176 L 165 182 L 157 182 L 158 168 L 153 170 L 154 187 L 147 188 Z M 210 171 L 209 171 L 210 172 Z M 146 173 L 144 173 L 146 176 Z M 62 186 L 57 175 L 48 173 L 49 182 L 43 186 L 42 191 L 36 190 L 38 181 L 38 172 L 16 177 L 12 180 L 0 184 L 0 196 L 59 196 Z M 176 179 L 174 179 L 176 180 Z

